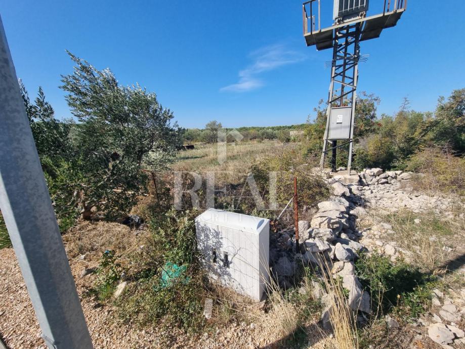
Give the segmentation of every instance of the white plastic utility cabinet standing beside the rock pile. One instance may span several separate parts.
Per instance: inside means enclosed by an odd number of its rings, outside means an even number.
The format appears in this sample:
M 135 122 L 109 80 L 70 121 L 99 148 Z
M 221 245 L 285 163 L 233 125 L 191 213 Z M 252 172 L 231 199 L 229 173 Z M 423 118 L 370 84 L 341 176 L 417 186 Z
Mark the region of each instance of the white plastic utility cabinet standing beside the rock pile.
M 210 208 L 196 217 L 195 229 L 210 278 L 261 300 L 269 281 L 270 220 Z

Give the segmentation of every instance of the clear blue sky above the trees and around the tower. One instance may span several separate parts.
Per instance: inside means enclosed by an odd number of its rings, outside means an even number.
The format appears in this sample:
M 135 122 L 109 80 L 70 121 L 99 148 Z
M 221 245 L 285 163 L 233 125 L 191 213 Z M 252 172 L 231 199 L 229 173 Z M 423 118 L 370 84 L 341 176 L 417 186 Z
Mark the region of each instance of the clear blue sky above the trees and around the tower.
M 330 20 L 332 1 L 321 2 Z M 358 88 L 381 97 L 378 114 L 405 96 L 434 110 L 465 87 L 465 2 L 437 3 L 410 0 L 397 27 L 361 43 Z M 303 123 L 327 98 L 331 50 L 306 47 L 301 1 L 5 0 L 0 14 L 18 76 L 30 95 L 43 87 L 57 117 L 71 116 L 58 88 L 72 72 L 65 50 L 146 86 L 183 127 Z

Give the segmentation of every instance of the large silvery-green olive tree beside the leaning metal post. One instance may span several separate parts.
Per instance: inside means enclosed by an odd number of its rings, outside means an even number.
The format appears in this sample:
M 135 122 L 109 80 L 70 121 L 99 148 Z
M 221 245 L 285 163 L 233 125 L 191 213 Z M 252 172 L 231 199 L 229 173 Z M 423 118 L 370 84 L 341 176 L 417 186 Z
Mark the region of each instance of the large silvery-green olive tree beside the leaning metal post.
M 138 84 L 121 86 L 109 69 L 98 70 L 70 54 L 72 74 L 61 89 L 77 123 L 56 120 L 39 89 L 23 100 L 59 220 L 79 213 L 107 218 L 127 212 L 146 190 L 142 169 L 163 168 L 181 144 L 173 113 Z M 34 132 L 37 130 L 37 132 Z

